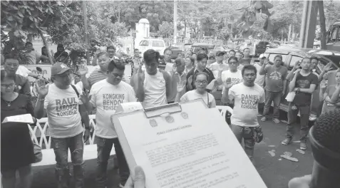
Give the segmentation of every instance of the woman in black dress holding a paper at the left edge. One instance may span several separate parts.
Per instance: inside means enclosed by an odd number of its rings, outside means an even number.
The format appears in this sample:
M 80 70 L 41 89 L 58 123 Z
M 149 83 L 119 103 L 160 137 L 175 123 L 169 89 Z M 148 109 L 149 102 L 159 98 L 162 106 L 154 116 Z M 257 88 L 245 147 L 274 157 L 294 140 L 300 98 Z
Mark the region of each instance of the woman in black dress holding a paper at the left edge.
M 23 188 L 31 187 L 31 163 L 34 162 L 34 146 L 26 122 L 3 122 L 13 115 L 34 115 L 28 95 L 14 92 L 13 78 L 1 71 L 1 181 L 4 188 L 16 187 L 19 180 Z M 36 118 L 33 117 L 34 124 Z M 19 171 L 19 179 L 16 179 Z

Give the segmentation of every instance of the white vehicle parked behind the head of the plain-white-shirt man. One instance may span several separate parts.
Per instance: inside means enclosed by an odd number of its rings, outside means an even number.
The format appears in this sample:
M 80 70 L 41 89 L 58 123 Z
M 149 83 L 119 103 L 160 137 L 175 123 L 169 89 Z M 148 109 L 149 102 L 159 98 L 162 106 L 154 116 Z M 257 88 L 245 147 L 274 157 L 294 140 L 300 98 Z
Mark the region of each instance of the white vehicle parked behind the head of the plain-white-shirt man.
M 153 49 L 163 55 L 166 46 L 162 38 L 144 38 L 137 48 L 142 54 L 148 49 Z

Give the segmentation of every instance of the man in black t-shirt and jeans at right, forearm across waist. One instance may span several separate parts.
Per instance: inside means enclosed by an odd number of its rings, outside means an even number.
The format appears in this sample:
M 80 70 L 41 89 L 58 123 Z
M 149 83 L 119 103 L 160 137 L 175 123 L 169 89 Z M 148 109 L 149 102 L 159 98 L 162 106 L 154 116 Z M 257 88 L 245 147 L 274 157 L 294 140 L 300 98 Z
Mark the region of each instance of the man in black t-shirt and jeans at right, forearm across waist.
M 306 138 L 309 130 L 308 122 L 311 112 L 311 94 L 318 84 L 318 77 L 311 73 L 310 58 L 302 59 L 301 67 L 301 71 L 298 69 L 293 80 L 289 83 L 289 92 L 295 91 L 296 95 L 293 102 L 289 103 L 286 139 L 281 143 L 282 145 L 289 145 L 292 142 L 294 135 L 293 123 L 297 118 L 297 113 L 300 111 L 300 149 L 306 150 Z

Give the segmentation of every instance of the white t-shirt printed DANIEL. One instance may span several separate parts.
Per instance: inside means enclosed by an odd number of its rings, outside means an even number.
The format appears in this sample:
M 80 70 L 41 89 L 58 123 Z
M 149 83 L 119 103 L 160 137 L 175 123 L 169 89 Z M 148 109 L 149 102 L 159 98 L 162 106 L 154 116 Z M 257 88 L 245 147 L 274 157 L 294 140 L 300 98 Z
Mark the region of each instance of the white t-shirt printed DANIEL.
M 229 89 L 230 100 L 235 100 L 235 105 L 230 117 L 232 125 L 239 125 L 242 127 L 256 127 L 258 104 L 264 103 L 264 90 L 255 83 L 254 86 L 248 87 L 244 83 L 232 85 Z

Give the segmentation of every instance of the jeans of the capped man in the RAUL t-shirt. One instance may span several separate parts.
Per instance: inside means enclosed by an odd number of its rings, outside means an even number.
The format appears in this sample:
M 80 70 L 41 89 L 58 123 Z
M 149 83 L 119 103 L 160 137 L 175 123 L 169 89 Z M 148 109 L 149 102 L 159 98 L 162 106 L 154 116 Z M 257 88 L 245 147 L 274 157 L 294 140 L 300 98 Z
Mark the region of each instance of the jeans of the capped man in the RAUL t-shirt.
M 70 187 L 70 172 L 68 168 L 68 148 L 71 152 L 73 164 L 73 176 L 75 187 L 84 187 L 84 168 L 83 168 L 83 132 L 66 138 L 51 137 L 51 146 L 56 155 L 56 179 L 58 188 Z

